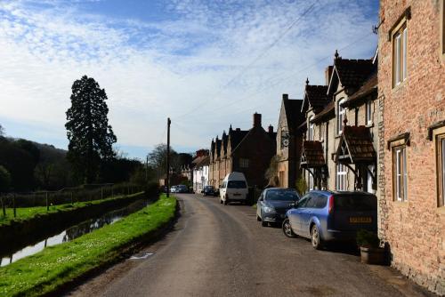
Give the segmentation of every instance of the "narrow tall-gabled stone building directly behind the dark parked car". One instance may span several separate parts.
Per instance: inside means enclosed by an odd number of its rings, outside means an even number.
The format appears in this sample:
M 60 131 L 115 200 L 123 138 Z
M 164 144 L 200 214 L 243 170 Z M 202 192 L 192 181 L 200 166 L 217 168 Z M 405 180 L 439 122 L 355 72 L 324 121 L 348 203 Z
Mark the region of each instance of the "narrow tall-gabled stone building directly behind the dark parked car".
M 297 128 L 304 122 L 303 100 L 289 99 L 283 94 L 277 128 L 277 162 L 279 188 L 295 188 L 300 177 L 303 134 Z

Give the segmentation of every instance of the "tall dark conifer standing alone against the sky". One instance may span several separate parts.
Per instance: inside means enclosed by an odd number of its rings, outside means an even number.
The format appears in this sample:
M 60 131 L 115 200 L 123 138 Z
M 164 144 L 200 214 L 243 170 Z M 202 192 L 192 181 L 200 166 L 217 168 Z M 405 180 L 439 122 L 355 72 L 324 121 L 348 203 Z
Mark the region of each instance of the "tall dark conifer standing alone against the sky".
M 103 160 L 114 157 L 117 138 L 108 124 L 107 94 L 92 77 L 82 76 L 72 87 L 67 111 L 67 157 L 77 177 L 86 183 L 96 180 Z

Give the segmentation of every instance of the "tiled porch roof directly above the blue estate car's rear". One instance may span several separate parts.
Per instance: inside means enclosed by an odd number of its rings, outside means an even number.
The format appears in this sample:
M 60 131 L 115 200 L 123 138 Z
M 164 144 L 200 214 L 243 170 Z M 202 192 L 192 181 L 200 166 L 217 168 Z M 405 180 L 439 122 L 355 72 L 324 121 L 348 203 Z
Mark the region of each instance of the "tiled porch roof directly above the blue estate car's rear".
M 369 128 L 364 125 L 345 125 L 336 151 L 336 162 L 357 164 L 375 161 L 376 150 Z

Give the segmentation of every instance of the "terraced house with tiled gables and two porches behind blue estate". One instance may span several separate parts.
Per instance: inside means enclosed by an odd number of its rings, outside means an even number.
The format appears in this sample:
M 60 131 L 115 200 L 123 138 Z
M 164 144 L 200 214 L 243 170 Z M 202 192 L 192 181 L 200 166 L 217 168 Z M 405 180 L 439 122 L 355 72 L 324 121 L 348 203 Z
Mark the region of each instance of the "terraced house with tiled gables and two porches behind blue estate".
M 376 193 L 376 61 L 347 60 L 336 52 L 326 85 L 306 81 L 301 168 L 309 189 Z

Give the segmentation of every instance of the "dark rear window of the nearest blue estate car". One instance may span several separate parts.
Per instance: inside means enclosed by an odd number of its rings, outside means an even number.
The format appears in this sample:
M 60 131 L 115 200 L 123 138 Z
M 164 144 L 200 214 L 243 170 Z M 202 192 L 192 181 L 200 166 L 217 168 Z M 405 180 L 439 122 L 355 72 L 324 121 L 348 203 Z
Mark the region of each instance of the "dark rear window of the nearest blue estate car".
M 376 211 L 377 199 L 375 196 L 336 196 L 334 198 L 334 208 L 337 211 L 361 211 L 369 212 Z

